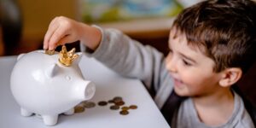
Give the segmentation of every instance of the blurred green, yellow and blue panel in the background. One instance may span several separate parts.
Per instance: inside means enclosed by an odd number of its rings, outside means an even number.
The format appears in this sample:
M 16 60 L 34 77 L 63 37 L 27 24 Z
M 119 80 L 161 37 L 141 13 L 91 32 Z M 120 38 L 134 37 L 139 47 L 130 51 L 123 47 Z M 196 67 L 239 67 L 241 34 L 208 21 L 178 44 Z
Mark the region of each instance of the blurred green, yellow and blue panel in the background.
M 80 0 L 82 21 L 110 22 L 177 15 L 182 5 L 175 0 Z

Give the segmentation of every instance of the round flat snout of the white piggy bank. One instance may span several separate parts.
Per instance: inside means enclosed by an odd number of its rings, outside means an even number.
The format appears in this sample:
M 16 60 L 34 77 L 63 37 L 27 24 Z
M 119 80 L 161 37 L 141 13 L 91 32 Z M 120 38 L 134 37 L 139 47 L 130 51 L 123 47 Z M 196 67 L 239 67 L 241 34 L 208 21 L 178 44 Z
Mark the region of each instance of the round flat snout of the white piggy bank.
M 84 88 L 84 100 L 89 100 L 94 96 L 96 91 L 96 85 L 91 81 L 85 81 L 85 88 Z

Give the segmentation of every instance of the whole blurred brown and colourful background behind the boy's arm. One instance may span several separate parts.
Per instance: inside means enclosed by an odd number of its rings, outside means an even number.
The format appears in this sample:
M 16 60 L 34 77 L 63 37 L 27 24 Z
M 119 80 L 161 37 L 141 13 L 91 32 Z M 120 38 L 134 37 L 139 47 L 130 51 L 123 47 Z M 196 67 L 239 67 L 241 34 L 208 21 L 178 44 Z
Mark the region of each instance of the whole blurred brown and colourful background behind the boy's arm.
M 118 28 L 166 52 L 172 17 L 199 0 L 0 0 L 0 55 L 42 49 L 55 16 Z M 1 39 L 2 38 L 2 39 Z

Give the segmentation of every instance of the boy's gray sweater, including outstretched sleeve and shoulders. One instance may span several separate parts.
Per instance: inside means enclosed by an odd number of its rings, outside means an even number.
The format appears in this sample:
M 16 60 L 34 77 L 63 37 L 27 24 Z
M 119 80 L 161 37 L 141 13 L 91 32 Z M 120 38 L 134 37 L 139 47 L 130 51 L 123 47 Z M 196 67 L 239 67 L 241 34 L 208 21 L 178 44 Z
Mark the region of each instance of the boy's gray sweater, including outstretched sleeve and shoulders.
M 120 75 L 142 80 L 153 96 L 154 102 L 161 109 L 173 90 L 173 80 L 165 67 L 165 56 L 157 49 L 144 46 L 118 30 L 98 28 L 102 31 L 102 42 L 99 47 L 94 52 L 90 52 L 81 44 L 81 50 Z M 182 102 L 173 118 L 172 127 L 253 128 L 254 126 L 241 97 L 235 93 L 235 109 L 226 124 L 207 126 L 202 123 L 192 99 L 188 98 Z

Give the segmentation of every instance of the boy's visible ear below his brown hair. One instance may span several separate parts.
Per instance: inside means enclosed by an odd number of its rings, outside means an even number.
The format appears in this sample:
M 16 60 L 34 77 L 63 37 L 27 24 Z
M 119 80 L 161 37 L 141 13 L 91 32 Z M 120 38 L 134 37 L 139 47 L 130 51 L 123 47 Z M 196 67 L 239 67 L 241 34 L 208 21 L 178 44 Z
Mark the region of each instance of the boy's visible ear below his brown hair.
M 218 84 L 222 87 L 228 87 L 232 84 L 235 84 L 239 79 L 241 79 L 241 68 L 230 67 L 226 68 L 222 72 L 221 79 L 218 81 Z

